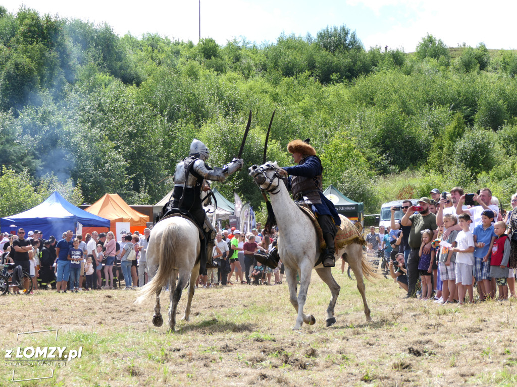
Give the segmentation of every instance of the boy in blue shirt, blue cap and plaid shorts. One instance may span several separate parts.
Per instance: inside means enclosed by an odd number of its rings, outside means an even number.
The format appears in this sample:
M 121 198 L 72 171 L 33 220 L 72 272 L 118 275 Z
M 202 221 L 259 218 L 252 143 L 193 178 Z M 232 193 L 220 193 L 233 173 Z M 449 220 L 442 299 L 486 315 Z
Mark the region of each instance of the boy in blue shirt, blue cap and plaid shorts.
M 474 237 L 474 279 L 478 284 L 479 298 L 483 301 L 487 297 L 493 298 L 490 285 L 490 254 L 497 235 L 494 232 L 494 213 L 485 209 L 481 213 L 481 224 L 473 231 Z

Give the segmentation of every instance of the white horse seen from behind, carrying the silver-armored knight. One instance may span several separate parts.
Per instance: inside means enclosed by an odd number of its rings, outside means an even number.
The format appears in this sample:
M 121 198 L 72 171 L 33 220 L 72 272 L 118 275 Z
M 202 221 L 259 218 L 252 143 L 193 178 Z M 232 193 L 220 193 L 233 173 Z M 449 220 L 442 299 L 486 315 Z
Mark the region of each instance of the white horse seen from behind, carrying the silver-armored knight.
M 146 258 L 149 267 L 149 278 L 152 279 L 139 291 L 141 296 L 136 303 L 156 295 L 153 324 L 160 327 L 163 318 L 160 313 L 160 293 L 169 283 L 170 301 L 169 329 L 174 331 L 176 325 L 176 308 L 181 298 L 181 291 L 189 284 L 187 307 L 182 320 L 188 321 L 190 304 L 194 296 L 194 286 L 199 275 L 200 263 L 196 257 L 200 253 L 201 242 L 199 230 L 191 221 L 179 216 L 165 218 L 156 223 L 149 237 Z M 176 278 L 179 279 L 176 284 Z

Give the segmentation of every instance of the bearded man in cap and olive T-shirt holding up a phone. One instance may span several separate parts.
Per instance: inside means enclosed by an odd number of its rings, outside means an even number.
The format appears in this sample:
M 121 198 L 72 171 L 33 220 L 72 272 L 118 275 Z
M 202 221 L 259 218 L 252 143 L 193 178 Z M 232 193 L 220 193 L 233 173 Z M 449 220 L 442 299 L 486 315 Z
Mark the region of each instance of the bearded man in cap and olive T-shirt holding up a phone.
M 436 238 L 436 215 L 429 211 L 429 204 L 431 200 L 427 197 L 422 197 L 418 200 L 418 205 L 421 209 L 417 212 L 414 205 L 407 209 L 400 220 L 403 226 L 411 226 L 409 231 L 409 258 L 407 259 L 407 295 L 406 298 L 416 297 L 416 284 L 418 281 L 418 263 L 420 257 L 418 252 L 422 243 L 423 230 L 429 229 L 433 232 L 431 240 Z M 423 252 L 427 254 L 431 250 L 431 243 L 424 246 Z

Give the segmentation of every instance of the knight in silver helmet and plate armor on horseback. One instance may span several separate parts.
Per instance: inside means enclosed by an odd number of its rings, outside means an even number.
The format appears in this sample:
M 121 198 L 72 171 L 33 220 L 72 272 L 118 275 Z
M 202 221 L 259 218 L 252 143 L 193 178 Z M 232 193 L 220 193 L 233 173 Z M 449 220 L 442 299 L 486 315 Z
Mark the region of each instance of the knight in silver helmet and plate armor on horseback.
M 174 174 L 174 190 L 172 194 L 172 207 L 188 211 L 203 228 L 205 238 L 201 244 L 201 269 L 206 270 L 207 251 L 212 250 L 216 232 L 208 220 L 202 206 L 201 192 L 209 189 L 206 181 L 223 182 L 232 173 L 244 166 L 244 160 L 234 158 L 232 162 L 221 167 L 210 168 L 206 164 L 209 150 L 203 142 L 194 139 L 190 144 L 188 157 L 176 165 Z

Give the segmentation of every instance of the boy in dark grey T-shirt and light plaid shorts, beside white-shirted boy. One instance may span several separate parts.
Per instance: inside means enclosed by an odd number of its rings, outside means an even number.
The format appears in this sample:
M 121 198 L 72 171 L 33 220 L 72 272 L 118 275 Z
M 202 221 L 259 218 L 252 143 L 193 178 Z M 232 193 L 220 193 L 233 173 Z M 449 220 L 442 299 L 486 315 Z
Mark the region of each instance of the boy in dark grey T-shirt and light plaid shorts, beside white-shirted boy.
M 458 224 L 458 218 L 453 214 L 445 215 L 443 221 L 445 229 Z M 458 231 L 451 231 L 447 243 L 454 246 L 457 236 Z M 438 270 L 442 280 L 442 303 L 452 303 L 456 292 L 456 253 L 452 252 L 451 248 L 445 246 L 441 248 Z

